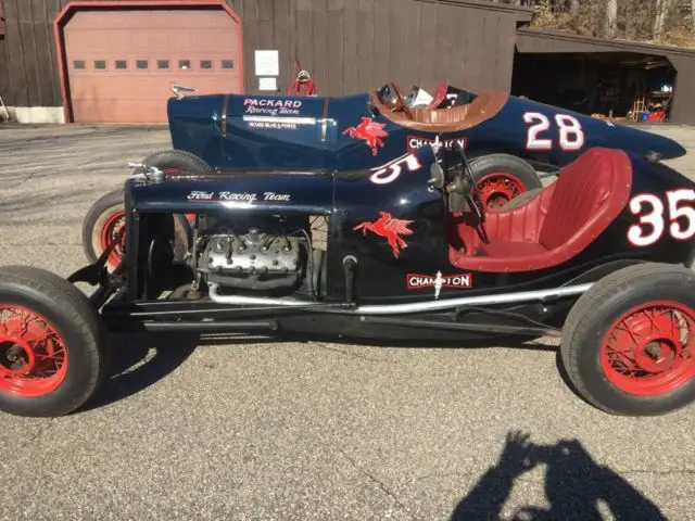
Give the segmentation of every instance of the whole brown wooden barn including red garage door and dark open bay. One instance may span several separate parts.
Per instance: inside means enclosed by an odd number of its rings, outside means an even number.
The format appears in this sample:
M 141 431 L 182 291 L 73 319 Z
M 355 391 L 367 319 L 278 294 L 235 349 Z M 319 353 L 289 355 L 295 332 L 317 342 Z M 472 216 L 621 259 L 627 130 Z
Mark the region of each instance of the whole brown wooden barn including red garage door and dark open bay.
M 0 98 L 21 123 L 157 124 L 172 82 L 278 93 L 301 67 L 327 96 L 448 81 L 634 119 L 656 97 L 695 123 L 695 52 L 531 17 L 479 0 L 0 0 Z

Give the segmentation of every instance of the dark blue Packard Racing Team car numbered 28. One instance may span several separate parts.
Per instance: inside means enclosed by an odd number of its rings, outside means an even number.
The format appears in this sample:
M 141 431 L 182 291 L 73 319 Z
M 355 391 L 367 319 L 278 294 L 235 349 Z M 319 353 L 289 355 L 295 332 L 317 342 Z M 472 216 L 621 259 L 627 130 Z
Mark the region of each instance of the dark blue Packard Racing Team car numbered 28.
M 143 163 L 167 174 L 358 170 L 383 167 L 439 140 L 444 150 L 464 147 L 492 209 L 540 189 L 543 173 L 557 173 L 593 147 L 650 161 L 685 154 L 671 139 L 503 92 L 478 96 L 442 85 L 419 106 L 414 102 L 418 93 L 404 98 L 393 82 L 334 98 L 179 93 L 167 105 L 173 150 Z M 94 203 L 85 219 L 83 238 L 91 260 L 122 226 L 118 190 Z M 114 263 L 118 255 L 114 252 Z

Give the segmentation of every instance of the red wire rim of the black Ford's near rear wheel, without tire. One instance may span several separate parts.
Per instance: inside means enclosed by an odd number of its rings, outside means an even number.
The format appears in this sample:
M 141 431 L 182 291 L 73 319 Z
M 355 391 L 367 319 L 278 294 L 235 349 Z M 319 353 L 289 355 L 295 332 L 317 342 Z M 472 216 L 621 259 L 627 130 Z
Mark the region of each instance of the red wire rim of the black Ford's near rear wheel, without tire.
M 670 393 L 695 377 L 695 310 L 675 302 L 634 307 L 616 320 L 601 346 L 601 368 L 620 391 Z

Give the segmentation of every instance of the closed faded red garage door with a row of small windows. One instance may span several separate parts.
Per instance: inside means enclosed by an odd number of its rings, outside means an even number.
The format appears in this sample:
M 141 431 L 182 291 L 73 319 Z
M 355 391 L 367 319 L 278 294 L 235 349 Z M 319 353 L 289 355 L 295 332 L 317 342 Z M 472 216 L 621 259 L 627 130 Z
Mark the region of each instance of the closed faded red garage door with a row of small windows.
M 239 23 L 222 9 L 77 11 L 64 27 L 77 123 L 164 123 L 170 82 L 242 92 Z

